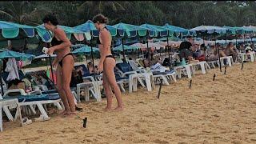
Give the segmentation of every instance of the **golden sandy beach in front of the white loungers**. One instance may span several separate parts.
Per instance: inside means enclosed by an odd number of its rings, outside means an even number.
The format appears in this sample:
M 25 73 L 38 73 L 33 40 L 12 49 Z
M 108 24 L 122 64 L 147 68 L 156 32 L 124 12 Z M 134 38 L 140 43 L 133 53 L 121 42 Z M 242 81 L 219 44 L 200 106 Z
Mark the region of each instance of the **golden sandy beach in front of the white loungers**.
M 223 68 L 224 71 L 224 68 Z M 255 63 L 227 67 L 162 86 L 122 94 L 125 110 L 103 112 L 102 102 L 82 102 L 81 118 L 60 118 L 20 127 L 4 122 L 0 143 L 256 143 Z M 216 74 L 213 82 L 213 75 Z M 114 107 L 117 102 L 114 100 Z

